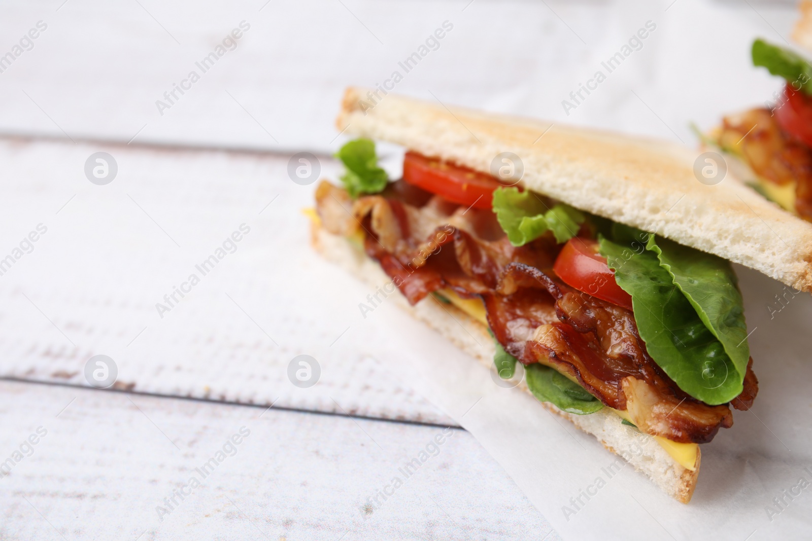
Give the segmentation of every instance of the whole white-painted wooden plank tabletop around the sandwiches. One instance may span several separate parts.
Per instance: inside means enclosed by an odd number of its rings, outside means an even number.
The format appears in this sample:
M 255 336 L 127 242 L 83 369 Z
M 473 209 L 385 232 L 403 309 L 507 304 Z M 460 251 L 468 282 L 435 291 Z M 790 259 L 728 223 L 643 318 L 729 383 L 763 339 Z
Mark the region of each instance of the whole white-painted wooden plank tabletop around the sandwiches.
M 291 182 L 286 152 L 316 152 L 335 178 L 343 87 L 380 83 L 445 20 L 398 92 L 692 144 L 689 121 L 775 89 L 745 52 L 787 36 L 792 6 L 752 3 L 5 2 L 0 55 L 47 29 L 0 72 L 0 260 L 47 232 L 0 275 L 0 539 L 558 539 L 482 445 L 369 354 L 369 291 L 303 249 L 313 185 Z M 659 33 L 565 114 L 647 19 Z M 160 114 L 242 20 L 237 48 Z M 100 151 L 119 167 L 106 186 L 84 174 Z M 118 368 L 111 389 L 84 376 L 97 354 Z M 307 389 L 287 377 L 299 354 L 321 367 Z

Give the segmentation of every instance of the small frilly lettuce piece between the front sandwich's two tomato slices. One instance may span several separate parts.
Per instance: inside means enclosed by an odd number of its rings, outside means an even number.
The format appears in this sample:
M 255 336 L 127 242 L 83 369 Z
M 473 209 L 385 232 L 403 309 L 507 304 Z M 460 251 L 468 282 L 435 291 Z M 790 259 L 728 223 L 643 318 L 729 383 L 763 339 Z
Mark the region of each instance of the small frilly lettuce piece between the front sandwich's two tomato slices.
M 494 212 L 513 246 L 524 246 L 552 231 L 557 243 L 566 243 L 578 234 L 585 216 L 568 204 L 547 207 L 532 191 L 500 187 L 494 191 Z

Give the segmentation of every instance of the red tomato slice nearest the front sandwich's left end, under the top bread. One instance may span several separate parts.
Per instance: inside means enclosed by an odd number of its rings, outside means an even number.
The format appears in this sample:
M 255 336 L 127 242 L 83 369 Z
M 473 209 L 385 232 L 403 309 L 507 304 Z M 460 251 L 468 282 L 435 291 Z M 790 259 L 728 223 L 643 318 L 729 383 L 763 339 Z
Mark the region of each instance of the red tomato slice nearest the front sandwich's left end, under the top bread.
M 452 203 L 474 208 L 490 208 L 494 190 L 502 186 L 490 174 L 451 165 L 417 152 L 406 152 L 404 181 Z

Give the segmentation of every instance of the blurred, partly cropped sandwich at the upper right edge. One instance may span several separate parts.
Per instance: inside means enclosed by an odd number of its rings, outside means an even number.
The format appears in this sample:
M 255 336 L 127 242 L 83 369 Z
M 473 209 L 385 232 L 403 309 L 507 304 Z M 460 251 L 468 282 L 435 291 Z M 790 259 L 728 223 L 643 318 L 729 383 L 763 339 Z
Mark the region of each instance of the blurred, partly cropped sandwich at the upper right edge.
M 754 66 L 784 79 L 772 101 L 723 118 L 701 135 L 736 174 L 767 200 L 812 221 L 812 65 L 793 50 L 758 39 Z

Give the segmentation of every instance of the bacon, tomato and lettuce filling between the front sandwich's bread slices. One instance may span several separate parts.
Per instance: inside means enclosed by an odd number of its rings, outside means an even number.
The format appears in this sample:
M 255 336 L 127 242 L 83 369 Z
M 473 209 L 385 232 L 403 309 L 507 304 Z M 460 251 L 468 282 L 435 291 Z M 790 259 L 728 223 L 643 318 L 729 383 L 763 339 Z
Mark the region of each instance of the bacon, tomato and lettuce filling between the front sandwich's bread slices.
M 752 405 L 727 261 L 413 152 L 404 178 L 386 182 L 369 140 L 339 157 L 343 187 L 316 191 L 324 228 L 376 260 L 409 303 L 453 303 L 486 324 L 499 375 L 522 363 L 539 400 L 573 414 L 609 407 L 685 444 L 711 441 L 732 426 L 730 406 Z

